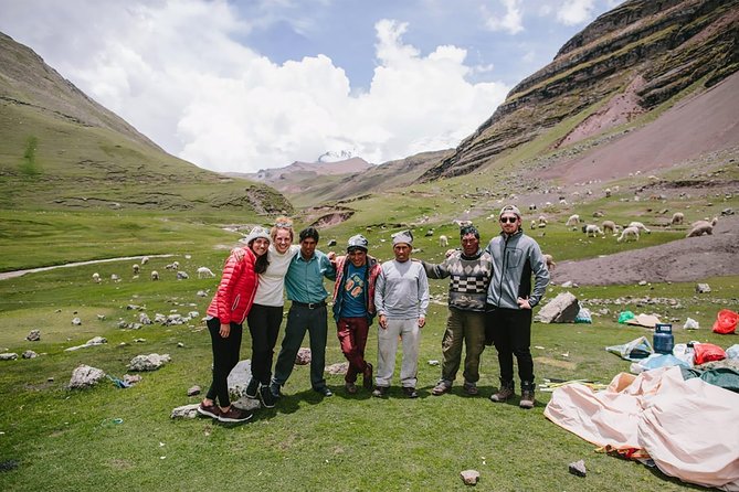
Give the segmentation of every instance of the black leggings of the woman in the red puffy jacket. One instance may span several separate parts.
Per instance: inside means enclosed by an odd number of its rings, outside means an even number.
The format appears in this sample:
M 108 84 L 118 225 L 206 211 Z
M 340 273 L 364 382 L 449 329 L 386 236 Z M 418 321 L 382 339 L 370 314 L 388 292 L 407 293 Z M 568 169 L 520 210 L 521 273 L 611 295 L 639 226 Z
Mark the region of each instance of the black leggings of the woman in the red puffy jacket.
M 239 363 L 239 351 L 241 349 L 242 325 L 231 322 L 229 338 L 221 336 L 221 320 L 211 318 L 207 321 L 210 339 L 213 343 L 213 382 L 208 389 L 205 398 L 218 400 L 225 408 L 231 405 L 229 397 L 229 374 Z

